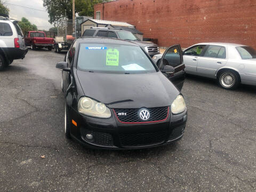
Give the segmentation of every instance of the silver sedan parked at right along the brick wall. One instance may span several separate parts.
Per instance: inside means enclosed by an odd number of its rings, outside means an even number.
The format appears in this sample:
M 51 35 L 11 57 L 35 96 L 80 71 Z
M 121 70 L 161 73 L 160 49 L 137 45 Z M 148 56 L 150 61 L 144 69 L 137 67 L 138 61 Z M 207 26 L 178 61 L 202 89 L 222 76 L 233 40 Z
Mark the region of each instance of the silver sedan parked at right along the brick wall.
M 157 63 L 162 54 L 155 55 Z M 233 43 L 199 43 L 183 51 L 187 74 L 214 78 L 224 89 L 256 85 L 256 51 Z

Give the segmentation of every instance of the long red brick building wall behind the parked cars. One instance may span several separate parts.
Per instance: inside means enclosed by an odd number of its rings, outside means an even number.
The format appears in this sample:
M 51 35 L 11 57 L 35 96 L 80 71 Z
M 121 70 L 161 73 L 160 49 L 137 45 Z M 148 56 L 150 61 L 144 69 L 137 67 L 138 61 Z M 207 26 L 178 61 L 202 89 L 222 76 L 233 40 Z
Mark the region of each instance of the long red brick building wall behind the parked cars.
M 159 46 L 229 42 L 256 49 L 256 0 L 117 0 L 94 5 L 94 18 L 131 23 Z

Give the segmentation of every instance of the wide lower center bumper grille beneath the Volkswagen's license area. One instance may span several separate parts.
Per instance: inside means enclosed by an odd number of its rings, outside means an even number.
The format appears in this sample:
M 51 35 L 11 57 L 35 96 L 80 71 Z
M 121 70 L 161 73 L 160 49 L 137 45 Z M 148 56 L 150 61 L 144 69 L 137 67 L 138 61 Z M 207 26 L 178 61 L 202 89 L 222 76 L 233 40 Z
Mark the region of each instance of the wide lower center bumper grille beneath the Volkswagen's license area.
M 140 134 L 120 134 L 120 142 L 123 147 L 148 146 L 165 141 L 167 131 Z

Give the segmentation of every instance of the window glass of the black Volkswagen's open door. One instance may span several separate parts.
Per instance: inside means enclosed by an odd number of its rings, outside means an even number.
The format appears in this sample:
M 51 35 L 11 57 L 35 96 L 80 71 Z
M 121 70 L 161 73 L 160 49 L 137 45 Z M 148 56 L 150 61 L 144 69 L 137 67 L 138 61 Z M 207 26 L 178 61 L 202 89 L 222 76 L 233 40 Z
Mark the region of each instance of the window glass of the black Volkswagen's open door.
M 164 55 L 161 68 L 164 66 L 172 66 L 177 67 L 181 64 L 181 57 L 180 52 L 176 46 L 171 47 L 169 50 L 167 50 L 166 54 Z

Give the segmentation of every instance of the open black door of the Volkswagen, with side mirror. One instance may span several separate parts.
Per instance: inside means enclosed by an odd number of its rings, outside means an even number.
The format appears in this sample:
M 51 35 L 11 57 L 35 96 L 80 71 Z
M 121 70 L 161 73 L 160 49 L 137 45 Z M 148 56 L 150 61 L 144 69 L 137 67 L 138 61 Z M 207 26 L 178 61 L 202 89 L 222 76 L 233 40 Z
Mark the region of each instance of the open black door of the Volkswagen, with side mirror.
M 158 68 L 181 91 L 186 71 L 180 45 L 173 45 L 164 52 Z

